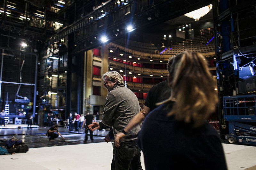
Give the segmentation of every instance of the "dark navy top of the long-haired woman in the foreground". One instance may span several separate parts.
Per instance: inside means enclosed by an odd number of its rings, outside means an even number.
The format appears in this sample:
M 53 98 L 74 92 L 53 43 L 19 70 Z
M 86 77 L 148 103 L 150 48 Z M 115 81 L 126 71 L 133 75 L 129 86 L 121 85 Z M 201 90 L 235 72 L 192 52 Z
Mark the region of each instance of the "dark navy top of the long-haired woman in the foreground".
M 176 121 L 162 104 L 145 118 L 138 135 L 147 170 L 226 170 L 226 160 L 218 132 L 209 123 L 194 128 Z

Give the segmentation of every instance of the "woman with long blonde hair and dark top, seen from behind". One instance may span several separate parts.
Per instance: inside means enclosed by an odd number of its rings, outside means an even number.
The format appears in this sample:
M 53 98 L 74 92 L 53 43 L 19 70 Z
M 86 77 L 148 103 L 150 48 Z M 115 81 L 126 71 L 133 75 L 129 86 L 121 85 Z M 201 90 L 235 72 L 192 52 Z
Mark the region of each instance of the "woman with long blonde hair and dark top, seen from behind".
M 146 170 L 226 170 L 220 136 L 205 121 L 218 97 L 204 56 L 180 53 L 168 83 L 172 95 L 148 114 L 138 135 Z

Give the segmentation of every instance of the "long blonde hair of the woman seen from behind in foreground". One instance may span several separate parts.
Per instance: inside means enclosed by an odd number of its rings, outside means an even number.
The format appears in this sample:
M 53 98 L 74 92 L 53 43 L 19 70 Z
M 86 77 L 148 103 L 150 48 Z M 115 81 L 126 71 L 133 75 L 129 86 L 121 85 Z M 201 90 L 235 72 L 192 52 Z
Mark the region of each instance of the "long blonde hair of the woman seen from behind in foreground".
M 204 56 L 188 52 L 177 55 L 172 64 L 172 96 L 164 101 L 175 100 L 168 116 L 198 127 L 215 110 L 218 102 L 214 81 Z

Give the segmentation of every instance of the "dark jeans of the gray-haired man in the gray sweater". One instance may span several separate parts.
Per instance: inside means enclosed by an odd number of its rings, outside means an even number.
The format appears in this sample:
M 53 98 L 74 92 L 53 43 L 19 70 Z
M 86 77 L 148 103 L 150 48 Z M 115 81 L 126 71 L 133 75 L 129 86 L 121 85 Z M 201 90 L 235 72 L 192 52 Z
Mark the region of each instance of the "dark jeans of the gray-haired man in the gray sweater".
M 142 170 L 140 162 L 140 148 L 137 139 L 121 142 L 120 147 L 116 147 L 115 169 L 117 170 Z

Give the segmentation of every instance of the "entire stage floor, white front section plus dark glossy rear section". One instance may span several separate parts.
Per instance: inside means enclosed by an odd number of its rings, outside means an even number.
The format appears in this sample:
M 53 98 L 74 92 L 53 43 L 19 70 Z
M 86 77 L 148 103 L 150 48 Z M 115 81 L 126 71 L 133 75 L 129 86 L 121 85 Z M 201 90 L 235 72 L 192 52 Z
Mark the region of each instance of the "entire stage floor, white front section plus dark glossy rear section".
M 89 137 L 84 144 L 84 130 L 68 132 L 67 128 L 60 127 L 59 131 L 66 140 L 59 137 L 49 141 L 44 136 L 48 129 L 49 127 L 0 129 L 0 139 L 7 140 L 15 136 L 29 147 L 27 153 L 0 155 L 1 170 L 110 169 L 113 157 L 112 144 L 104 142 L 104 136 L 108 131 L 95 131 L 94 140 L 91 141 Z M 229 170 L 256 169 L 256 146 L 226 143 L 222 145 Z M 145 169 L 143 156 L 141 163 Z

